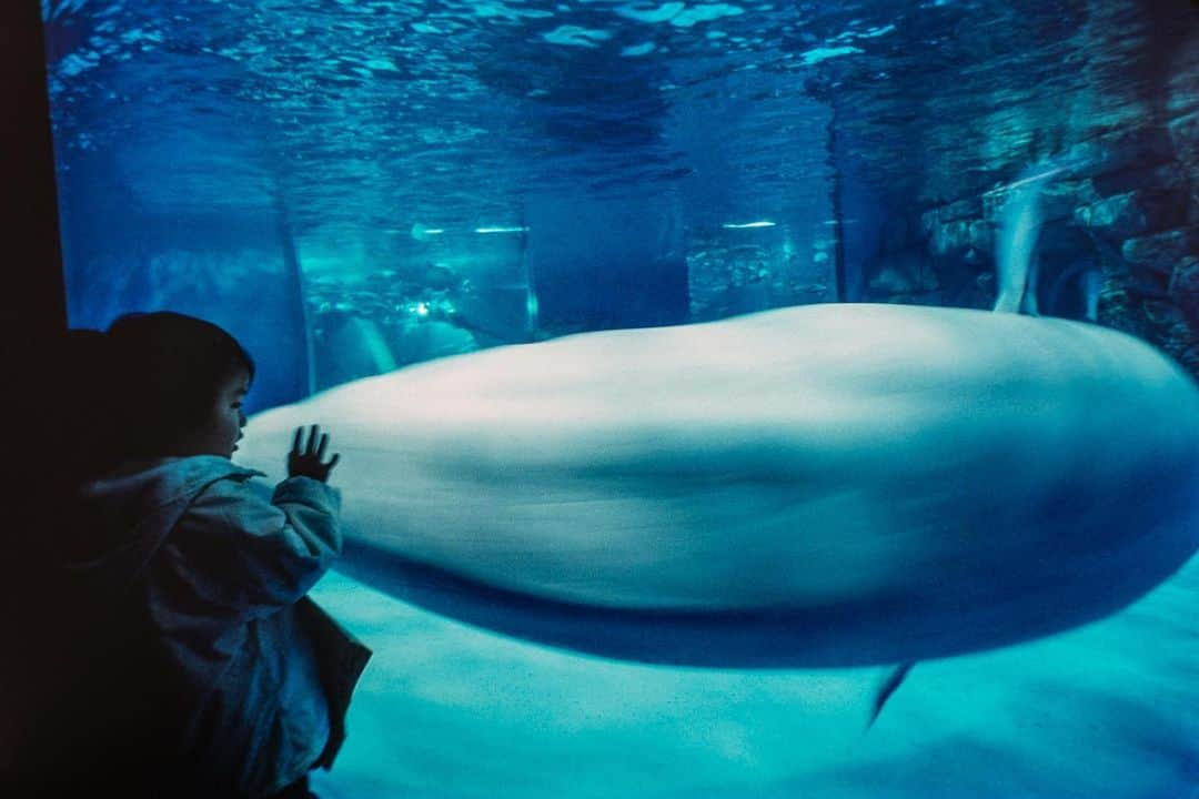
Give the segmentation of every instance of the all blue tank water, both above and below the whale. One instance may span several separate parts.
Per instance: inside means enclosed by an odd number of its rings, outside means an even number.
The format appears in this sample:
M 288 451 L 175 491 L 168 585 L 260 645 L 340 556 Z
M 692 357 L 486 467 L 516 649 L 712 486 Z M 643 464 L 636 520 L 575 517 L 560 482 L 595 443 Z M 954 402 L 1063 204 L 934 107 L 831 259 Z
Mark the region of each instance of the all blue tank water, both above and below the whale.
M 861 298 L 896 208 L 1159 108 L 1141 4 L 43 0 L 72 325 L 171 308 L 251 410 L 603 328 Z M 1189 90 L 1193 93 L 1193 87 Z M 855 272 L 855 270 L 858 270 Z M 649 667 L 331 574 L 375 649 L 324 797 L 1199 797 L 1199 571 L 887 668 Z

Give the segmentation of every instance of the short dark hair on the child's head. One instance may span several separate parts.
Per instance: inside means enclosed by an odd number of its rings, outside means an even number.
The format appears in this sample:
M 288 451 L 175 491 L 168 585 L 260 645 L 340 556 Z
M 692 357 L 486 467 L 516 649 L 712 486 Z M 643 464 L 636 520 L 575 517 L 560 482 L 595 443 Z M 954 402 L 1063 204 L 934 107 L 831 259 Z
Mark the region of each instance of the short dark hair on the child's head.
M 201 426 L 221 385 L 254 361 L 221 327 L 171 311 L 126 314 L 104 333 L 116 405 L 118 458 L 162 455 Z

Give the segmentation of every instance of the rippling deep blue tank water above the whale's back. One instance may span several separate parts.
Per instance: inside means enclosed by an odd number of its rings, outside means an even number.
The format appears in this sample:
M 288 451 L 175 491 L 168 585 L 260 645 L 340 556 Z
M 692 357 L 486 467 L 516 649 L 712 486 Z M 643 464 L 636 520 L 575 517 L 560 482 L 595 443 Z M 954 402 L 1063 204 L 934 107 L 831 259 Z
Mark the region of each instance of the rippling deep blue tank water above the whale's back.
M 257 407 L 378 369 L 348 316 L 408 363 L 858 299 L 884 208 L 977 196 L 1164 80 L 1131 2 L 43 7 L 72 321 L 309 328 Z

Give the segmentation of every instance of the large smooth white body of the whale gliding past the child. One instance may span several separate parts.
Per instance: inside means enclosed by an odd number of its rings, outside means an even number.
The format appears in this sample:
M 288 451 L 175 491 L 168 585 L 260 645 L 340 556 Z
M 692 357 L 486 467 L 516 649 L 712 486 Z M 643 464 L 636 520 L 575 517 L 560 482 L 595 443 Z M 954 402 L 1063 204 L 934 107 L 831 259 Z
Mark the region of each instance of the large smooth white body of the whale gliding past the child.
M 342 453 L 344 569 L 697 666 L 911 661 L 1111 613 L 1199 546 L 1199 392 L 1092 325 L 830 304 L 586 333 L 257 416 Z

